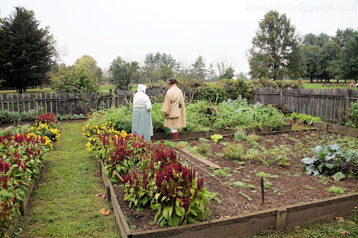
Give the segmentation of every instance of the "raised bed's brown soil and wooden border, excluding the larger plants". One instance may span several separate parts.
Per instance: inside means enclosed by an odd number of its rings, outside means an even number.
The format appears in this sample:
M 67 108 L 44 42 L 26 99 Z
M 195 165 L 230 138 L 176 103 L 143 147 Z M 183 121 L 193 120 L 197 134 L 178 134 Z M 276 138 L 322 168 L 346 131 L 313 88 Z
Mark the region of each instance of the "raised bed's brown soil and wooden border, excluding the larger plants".
M 301 158 L 313 156 L 314 151 L 310 149 L 317 142 L 328 144 L 329 140 L 348 144 L 357 141 L 357 138 L 325 131 L 262 134 L 257 146 L 240 142 L 245 151 L 258 151 L 257 158 L 245 158 L 244 163 L 228 161 L 222 156 L 222 149 L 227 144 L 238 143 L 233 137 L 224 137 L 217 144 L 208 141 L 211 154 L 206 155 L 206 159 L 220 165 L 221 170 L 214 170 L 178 149 L 182 163 L 194 164 L 196 172 L 204 175 L 204 186 L 215 194 L 215 198 L 207 206 L 206 221 L 174 228 L 159 228 L 154 224 L 155 211 L 129 208 L 128 202 L 123 200 L 120 186 L 113 187 L 108 178 L 103 177 L 122 237 L 246 236 L 262 229 L 282 230 L 329 216 L 342 216 L 358 206 L 357 180 L 344 179 L 335 183 L 327 175 L 313 177 L 306 174 L 306 165 Z M 194 147 L 201 142 L 188 140 L 187 143 L 189 147 Z M 272 162 L 275 161 L 274 156 L 286 152 L 289 166 L 282 167 L 276 164 L 278 162 Z M 263 157 L 269 162 L 268 165 L 264 165 Z M 259 174 L 266 176 L 264 204 Z M 343 188 L 348 195 L 337 196 L 329 192 L 331 186 Z

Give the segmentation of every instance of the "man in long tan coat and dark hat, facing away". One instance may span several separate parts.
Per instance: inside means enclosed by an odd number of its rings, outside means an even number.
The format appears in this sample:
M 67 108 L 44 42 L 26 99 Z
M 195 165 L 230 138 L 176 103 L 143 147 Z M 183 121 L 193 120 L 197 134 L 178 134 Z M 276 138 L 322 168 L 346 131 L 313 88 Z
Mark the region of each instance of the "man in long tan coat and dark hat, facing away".
M 178 129 L 187 126 L 185 123 L 185 105 L 182 91 L 176 86 L 178 81 L 176 79 L 169 79 L 168 91 L 166 92 L 165 100 L 162 107 L 164 113 L 164 126 L 171 129 L 173 139 L 179 139 Z

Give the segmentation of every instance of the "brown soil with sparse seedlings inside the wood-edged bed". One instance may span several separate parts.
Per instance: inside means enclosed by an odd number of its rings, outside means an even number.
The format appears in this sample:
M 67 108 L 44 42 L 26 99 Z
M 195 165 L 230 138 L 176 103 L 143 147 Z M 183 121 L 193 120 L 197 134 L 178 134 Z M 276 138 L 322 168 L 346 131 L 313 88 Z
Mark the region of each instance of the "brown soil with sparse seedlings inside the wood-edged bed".
M 198 146 L 202 143 L 199 140 L 187 140 L 189 147 Z M 259 144 L 253 146 L 247 141 L 236 141 L 234 137 L 224 137 L 223 140 L 210 144 L 210 154 L 205 155 L 208 161 L 222 166 L 221 171 L 215 171 L 187 154 L 178 151 L 182 163 L 193 163 L 198 174 L 203 174 L 204 184 L 215 198 L 210 200 L 206 206 L 206 220 L 247 214 L 275 207 L 282 207 L 291 204 L 300 204 L 313 200 L 334 197 L 336 194 L 328 191 L 331 186 L 339 186 L 345 193 L 358 191 L 357 179 L 343 179 L 338 183 L 334 182 L 330 176 L 310 176 L 306 174 L 306 165 L 301 162 L 301 158 L 311 157 L 315 153 L 312 151 L 317 145 L 328 145 L 337 142 L 343 150 L 357 146 L 357 137 L 338 133 L 328 133 L 325 131 L 313 131 L 303 133 L 289 133 L 278 135 L 260 135 Z M 244 163 L 228 161 L 223 157 L 223 149 L 229 143 L 243 144 L 244 154 L 248 149 L 257 149 L 258 158 L 266 158 L 271 161 L 269 165 L 263 165 L 259 159 L 249 160 L 244 158 Z M 282 147 L 280 147 L 282 145 Z M 188 148 L 189 148 L 188 147 Z M 275 149 L 280 147 L 280 149 Z M 187 149 L 188 149 L 187 148 Z M 289 157 L 288 166 L 280 166 L 274 162 L 274 158 L 282 151 L 287 149 Z M 352 149 L 352 148 L 351 148 Z M 265 152 L 266 151 L 266 152 Z M 219 174 L 222 172 L 222 174 Z M 276 177 L 264 178 L 267 187 L 265 188 L 262 204 L 261 177 L 259 172 L 275 175 Z M 238 187 L 238 182 L 245 188 Z M 269 184 L 269 185 L 268 185 Z M 148 230 L 156 229 L 153 224 L 155 211 L 144 209 L 137 211 L 129 208 L 129 202 L 123 200 L 123 193 L 120 186 L 115 187 L 118 202 L 127 217 L 131 229 Z

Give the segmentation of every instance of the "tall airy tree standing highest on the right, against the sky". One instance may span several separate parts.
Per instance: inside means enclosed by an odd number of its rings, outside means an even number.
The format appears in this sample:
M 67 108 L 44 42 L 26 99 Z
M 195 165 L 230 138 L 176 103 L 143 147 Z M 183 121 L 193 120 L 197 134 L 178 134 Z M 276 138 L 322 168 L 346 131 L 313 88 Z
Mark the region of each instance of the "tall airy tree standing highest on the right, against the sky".
M 259 22 L 259 30 L 252 39 L 249 50 L 250 72 L 253 78 L 268 77 L 273 80 L 285 75 L 299 75 L 303 66 L 300 38 L 286 15 L 271 10 Z

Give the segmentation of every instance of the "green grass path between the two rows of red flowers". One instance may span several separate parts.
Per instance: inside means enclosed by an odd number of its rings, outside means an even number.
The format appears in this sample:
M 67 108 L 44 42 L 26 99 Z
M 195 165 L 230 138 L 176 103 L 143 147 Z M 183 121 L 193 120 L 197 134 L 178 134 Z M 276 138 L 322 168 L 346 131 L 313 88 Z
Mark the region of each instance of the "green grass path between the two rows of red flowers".
M 86 150 L 82 123 L 62 124 L 59 142 L 45 161 L 41 178 L 15 228 L 18 237 L 120 237 L 96 158 Z

